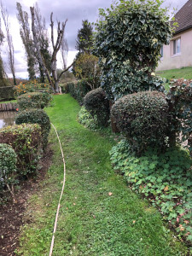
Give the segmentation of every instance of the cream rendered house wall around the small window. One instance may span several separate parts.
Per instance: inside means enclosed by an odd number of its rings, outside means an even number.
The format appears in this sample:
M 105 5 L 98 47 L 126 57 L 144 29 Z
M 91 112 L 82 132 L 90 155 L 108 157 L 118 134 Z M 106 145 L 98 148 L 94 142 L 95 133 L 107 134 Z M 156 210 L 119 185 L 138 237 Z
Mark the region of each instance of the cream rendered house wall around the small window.
M 177 38 L 181 38 L 181 52 L 173 55 L 173 40 Z M 169 45 L 163 46 L 163 58 L 157 71 L 189 66 L 192 66 L 192 29 L 177 34 Z

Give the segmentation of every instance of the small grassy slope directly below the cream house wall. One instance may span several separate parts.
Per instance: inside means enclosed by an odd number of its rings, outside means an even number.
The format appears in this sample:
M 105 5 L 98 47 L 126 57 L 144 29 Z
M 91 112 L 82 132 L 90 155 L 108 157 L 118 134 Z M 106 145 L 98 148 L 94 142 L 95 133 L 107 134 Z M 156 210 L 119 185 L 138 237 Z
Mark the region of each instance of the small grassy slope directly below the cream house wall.
M 166 79 L 192 79 L 192 67 L 163 70 L 157 72 L 161 78 Z

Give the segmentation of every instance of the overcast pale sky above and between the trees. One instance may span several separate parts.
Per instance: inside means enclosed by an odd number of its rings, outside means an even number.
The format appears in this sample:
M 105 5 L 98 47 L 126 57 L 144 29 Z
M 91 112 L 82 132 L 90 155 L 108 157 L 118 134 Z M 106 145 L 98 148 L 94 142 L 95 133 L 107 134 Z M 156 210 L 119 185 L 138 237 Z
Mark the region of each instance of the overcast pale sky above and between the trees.
M 166 0 L 164 5 L 170 9 L 180 9 L 188 0 Z M 54 20 L 64 21 L 68 19 L 66 26 L 66 38 L 69 45 L 67 64 L 73 61 L 77 51 L 75 49 L 78 30 L 82 27 L 82 20 L 96 21 L 99 8 L 108 8 L 113 0 L 2 0 L 9 13 L 11 32 L 15 46 L 15 70 L 17 78 L 27 78 L 26 56 L 20 40 L 20 26 L 16 19 L 16 2 L 19 2 L 30 16 L 30 6 L 38 3 L 41 14 L 45 17 L 49 27 L 49 15 L 54 13 Z M 55 22 L 56 23 L 56 22 Z M 1 49 L 3 60 L 6 64 L 5 45 Z M 61 67 L 58 60 L 58 66 Z M 9 70 L 6 68 L 7 73 Z M 9 75 L 10 76 L 10 75 Z

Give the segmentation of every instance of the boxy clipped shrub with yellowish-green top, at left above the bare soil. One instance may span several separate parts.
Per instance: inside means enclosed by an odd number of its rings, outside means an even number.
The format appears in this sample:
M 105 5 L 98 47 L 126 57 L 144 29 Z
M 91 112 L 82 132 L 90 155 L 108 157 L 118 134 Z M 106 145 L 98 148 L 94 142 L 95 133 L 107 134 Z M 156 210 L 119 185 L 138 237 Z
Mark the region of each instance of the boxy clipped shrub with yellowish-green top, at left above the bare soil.
M 37 170 L 42 154 L 41 127 L 38 124 L 12 125 L 0 129 L 0 143 L 14 148 L 20 175 Z

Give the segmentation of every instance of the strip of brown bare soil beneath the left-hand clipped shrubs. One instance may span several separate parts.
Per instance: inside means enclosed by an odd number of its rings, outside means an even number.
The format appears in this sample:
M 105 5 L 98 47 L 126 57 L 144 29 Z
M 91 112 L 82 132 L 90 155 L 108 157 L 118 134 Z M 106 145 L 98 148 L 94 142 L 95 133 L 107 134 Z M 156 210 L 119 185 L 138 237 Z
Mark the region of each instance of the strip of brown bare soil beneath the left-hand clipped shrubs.
M 45 174 L 51 164 L 52 151 L 48 147 L 42 160 L 38 176 L 20 184 L 20 190 L 15 193 L 16 203 L 11 199 L 0 206 L 0 255 L 15 255 L 19 246 L 20 227 L 24 225 L 24 214 L 27 199 L 38 190 L 38 183 L 44 180 Z

